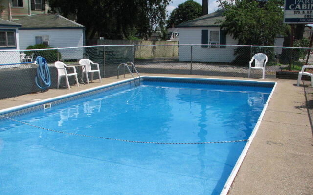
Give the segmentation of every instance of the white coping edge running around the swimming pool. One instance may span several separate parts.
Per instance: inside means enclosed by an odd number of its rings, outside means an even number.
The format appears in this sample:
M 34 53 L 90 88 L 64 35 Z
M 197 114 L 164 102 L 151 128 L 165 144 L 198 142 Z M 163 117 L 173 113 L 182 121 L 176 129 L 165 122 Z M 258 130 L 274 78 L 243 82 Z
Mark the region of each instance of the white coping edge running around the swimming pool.
M 122 84 L 122 83 L 126 83 L 126 82 L 130 82 L 130 81 L 133 81 L 134 79 L 137 79 L 139 77 L 135 77 L 135 78 L 129 78 L 129 79 L 126 79 L 126 80 L 122 80 L 122 81 L 117 81 L 117 82 L 113 82 L 113 83 L 110 83 L 110 84 L 106 84 L 106 85 L 101 85 L 101 86 L 98 86 L 98 87 L 93 87 L 93 88 L 90 88 L 90 89 L 85 89 L 85 90 L 82 90 L 82 91 L 79 91 L 79 92 L 73 92 L 73 93 L 70 93 L 70 94 L 66 94 L 66 95 L 62 95 L 62 96 L 57 96 L 57 97 L 54 97 L 54 98 L 48 98 L 48 99 L 44 99 L 44 100 L 40 100 L 40 101 L 36 101 L 36 102 L 31 102 L 31 103 L 26 103 L 26 104 L 23 104 L 23 105 L 19 105 L 19 106 L 14 106 L 14 107 L 11 107 L 11 108 L 6 108 L 6 109 L 2 109 L 0 110 L 0 115 L 2 114 L 6 114 L 6 113 L 10 113 L 10 112 L 14 112 L 14 111 L 17 111 L 17 110 L 22 110 L 22 109 L 25 109 L 25 108 L 29 108 L 29 107 L 33 107 L 33 106 L 38 106 L 38 105 L 41 105 L 41 104 L 45 104 L 45 103 L 49 103 L 49 102 L 53 102 L 53 101 L 57 101 L 57 100 L 60 100 L 60 99 L 65 99 L 65 98 L 69 98 L 69 97 L 73 97 L 73 96 L 77 96 L 77 95 L 81 95 L 81 94 L 85 94 L 85 93 L 89 93 L 89 92 L 93 92 L 93 91 L 96 91 L 96 90 L 100 90 L 100 89 L 104 89 L 104 88 L 107 88 L 107 87 L 111 87 L 111 86 L 114 86 L 114 85 L 118 85 L 118 84 Z M 254 81 L 254 80 L 239 80 L 239 79 L 222 79 L 222 78 L 193 78 L 193 77 L 165 77 L 165 76 L 141 76 L 140 78 L 177 78 L 177 79 L 182 79 L 182 80 L 211 80 L 211 81 L 231 81 L 231 82 L 238 82 L 238 83 L 268 83 L 268 84 L 274 84 L 273 88 L 272 88 L 272 91 L 271 93 L 269 94 L 269 97 L 268 97 L 268 100 L 267 102 L 265 103 L 264 105 L 264 108 L 261 112 L 261 115 L 257 121 L 257 123 L 255 124 L 255 127 L 253 129 L 253 131 L 251 132 L 251 135 L 250 137 L 248 138 L 249 141 L 247 141 L 243 151 L 241 152 L 233 170 L 231 171 L 230 175 L 228 176 L 228 179 L 220 193 L 220 195 L 227 195 L 229 189 L 230 189 L 230 186 L 231 184 L 233 183 L 238 171 L 239 171 L 239 168 L 242 164 L 242 162 L 244 161 L 244 158 L 246 156 L 246 153 L 252 143 L 252 140 L 253 138 L 255 137 L 258 129 L 259 129 L 259 126 L 261 124 L 261 121 L 264 117 L 264 114 L 265 114 L 265 111 L 268 107 L 268 103 L 273 95 L 273 92 L 276 88 L 276 85 L 277 85 L 277 82 L 272 82 L 272 81 Z

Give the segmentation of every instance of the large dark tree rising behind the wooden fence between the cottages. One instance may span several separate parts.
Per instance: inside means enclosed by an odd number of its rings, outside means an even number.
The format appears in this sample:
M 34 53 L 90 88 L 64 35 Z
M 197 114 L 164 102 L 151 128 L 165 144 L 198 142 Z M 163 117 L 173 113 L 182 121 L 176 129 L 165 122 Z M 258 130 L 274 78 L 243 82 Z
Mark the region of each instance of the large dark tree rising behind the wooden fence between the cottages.
M 49 0 L 51 12 L 67 17 L 76 15 L 92 39 L 95 34 L 106 39 L 141 38 L 153 27 L 164 23 L 170 0 Z

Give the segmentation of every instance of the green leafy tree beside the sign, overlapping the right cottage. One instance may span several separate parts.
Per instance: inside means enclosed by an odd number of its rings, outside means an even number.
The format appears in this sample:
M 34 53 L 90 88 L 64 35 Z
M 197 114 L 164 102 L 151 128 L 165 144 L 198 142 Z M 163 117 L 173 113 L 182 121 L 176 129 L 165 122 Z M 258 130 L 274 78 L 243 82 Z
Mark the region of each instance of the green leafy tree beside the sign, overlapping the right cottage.
M 223 4 L 221 28 L 225 29 L 239 45 L 273 46 L 277 35 L 284 35 L 287 25 L 283 23 L 284 1 L 282 0 L 234 0 Z M 253 48 L 252 55 L 267 54 L 268 61 L 274 61 L 272 48 Z M 239 47 L 234 63 L 245 64 L 250 60 L 250 48 Z

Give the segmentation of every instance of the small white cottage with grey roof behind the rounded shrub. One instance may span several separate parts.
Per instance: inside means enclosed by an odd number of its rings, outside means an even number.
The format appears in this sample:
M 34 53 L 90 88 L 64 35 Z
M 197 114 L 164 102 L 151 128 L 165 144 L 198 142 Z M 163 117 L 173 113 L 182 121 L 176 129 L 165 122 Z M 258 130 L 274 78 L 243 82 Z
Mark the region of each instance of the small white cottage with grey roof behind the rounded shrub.
M 85 44 L 85 27 L 58 14 L 35 14 L 16 21 L 22 26 L 20 49 L 29 45 L 50 47 L 79 47 Z M 82 59 L 83 49 L 60 50 L 62 59 Z

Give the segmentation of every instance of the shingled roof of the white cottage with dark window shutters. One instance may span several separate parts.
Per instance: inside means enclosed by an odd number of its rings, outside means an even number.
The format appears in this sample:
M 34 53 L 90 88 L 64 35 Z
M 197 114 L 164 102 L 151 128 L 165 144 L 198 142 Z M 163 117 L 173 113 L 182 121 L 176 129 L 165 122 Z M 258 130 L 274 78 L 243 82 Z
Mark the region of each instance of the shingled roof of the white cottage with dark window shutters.
M 216 24 L 218 20 L 225 20 L 225 17 L 222 16 L 223 11 L 218 10 L 213 13 L 201 16 L 199 18 L 183 22 L 176 27 L 178 28 L 192 28 L 192 27 L 219 27 L 219 24 Z

